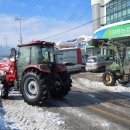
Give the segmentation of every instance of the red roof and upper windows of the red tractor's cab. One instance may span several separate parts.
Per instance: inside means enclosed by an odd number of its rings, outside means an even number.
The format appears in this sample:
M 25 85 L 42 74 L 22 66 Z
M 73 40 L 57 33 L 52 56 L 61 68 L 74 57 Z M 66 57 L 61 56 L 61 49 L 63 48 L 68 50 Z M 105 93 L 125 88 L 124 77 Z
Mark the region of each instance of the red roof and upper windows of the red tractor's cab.
M 54 43 L 32 41 L 18 45 L 18 47 L 20 60 L 24 59 L 28 65 L 54 62 Z

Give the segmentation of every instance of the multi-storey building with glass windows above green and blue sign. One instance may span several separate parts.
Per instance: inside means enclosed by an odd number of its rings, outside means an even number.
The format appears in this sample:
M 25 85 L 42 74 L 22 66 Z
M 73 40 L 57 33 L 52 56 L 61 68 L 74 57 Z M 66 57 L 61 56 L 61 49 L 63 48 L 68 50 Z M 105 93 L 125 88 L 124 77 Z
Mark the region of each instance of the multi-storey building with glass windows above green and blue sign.
M 130 46 L 130 0 L 91 0 L 94 39 Z M 101 54 L 109 51 L 101 50 Z

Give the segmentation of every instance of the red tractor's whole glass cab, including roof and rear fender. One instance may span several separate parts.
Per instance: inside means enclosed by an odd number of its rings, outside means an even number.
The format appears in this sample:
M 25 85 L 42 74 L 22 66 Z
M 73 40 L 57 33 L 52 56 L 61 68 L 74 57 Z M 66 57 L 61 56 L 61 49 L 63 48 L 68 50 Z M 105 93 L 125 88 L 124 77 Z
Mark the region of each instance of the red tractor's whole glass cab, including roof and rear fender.
M 27 44 L 18 45 L 18 79 L 21 79 L 22 74 L 29 68 L 38 69 L 46 73 L 55 70 L 58 66 L 56 66 L 55 61 L 55 55 L 58 51 L 55 50 L 54 45 L 54 43 L 45 41 L 32 41 Z M 64 67 L 63 70 L 65 69 Z

